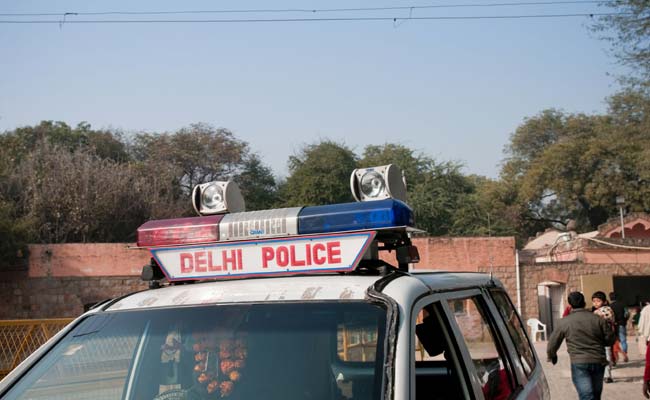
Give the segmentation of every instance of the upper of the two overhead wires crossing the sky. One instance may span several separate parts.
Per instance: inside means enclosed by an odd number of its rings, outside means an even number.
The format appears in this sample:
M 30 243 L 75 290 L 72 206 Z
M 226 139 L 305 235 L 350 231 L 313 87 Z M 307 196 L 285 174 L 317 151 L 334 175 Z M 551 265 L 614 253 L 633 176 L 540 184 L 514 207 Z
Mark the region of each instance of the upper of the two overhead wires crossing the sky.
M 286 8 L 286 9 L 236 9 L 236 10 L 178 10 L 178 11 L 99 11 L 99 12 L 60 12 L 60 13 L 0 13 L 0 17 L 52 17 L 62 15 L 170 15 L 170 14 L 235 14 L 235 13 L 330 13 L 360 11 L 397 11 L 435 8 L 478 8 L 478 7 L 521 7 L 570 4 L 613 4 L 611 0 L 557 0 L 557 1 L 519 1 L 501 3 L 432 4 L 419 6 L 358 7 L 358 8 Z

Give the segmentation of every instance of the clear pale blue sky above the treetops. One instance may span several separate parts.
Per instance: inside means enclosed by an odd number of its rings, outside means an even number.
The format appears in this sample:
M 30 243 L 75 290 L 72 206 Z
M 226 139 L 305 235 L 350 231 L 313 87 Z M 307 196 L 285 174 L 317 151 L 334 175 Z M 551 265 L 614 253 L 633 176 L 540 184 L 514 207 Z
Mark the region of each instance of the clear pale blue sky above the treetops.
M 504 0 L 505 2 L 506 0 Z M 475 0 L 471 4 L 495 3 Z M 355 8 L 439 1 L 15 1 L 0 13 Z M 596 4 L 82 19 L 571 14 Z M 0 20 L 54 19 L 8 17 Z M 206 122 L 250 144 L 278 176 L 320 139 L 357 153 L 401 143 L 497 177 L 524 118 L 598 113 L 620 68 L 589 18 L 184 24 L 0 24 L 0 131 L 59 120 L 124 132 Z

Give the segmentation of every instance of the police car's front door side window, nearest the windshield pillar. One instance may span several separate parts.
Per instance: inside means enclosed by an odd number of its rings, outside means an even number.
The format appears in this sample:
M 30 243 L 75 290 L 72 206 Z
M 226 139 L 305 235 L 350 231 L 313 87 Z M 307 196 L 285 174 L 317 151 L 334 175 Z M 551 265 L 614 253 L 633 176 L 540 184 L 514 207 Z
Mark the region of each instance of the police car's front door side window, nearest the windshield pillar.
M 415 398 L 422 400 L 463 399 L 463 373 L 454 362 L 447 327 L 440 318 L 439 304 L 429 304 L 415 322 Z M 453 336 L 452 336 L 453 337 Z

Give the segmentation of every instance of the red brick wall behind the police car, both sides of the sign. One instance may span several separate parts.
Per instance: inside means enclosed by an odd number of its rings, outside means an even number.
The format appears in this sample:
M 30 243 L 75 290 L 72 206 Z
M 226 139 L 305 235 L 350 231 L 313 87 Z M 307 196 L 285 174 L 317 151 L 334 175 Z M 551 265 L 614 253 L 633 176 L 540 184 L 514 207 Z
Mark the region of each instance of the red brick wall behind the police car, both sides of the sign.
M 516 299 L 515 241 L 496 238 L 417 238 L 420 269 L 489 272 Z M 0 319 L 75 317 L 85 304 L 146 288 L 147 251 L 124 243 L 30 245 L 29 268 L 0 272 Z M 392 257 L 392 259 L 391 259 Z M 388 260 L 394 263 L 394 253 Z

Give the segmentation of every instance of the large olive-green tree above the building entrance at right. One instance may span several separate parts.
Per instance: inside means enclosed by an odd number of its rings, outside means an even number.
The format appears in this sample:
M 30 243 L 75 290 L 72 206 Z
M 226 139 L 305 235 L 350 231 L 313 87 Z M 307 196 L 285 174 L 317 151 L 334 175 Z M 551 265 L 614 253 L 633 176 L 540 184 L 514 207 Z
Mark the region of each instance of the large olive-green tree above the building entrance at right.
M 606 115 L 547 110 L 512 135 L 502 177 L 518 188 L 530 226 L 574 219 L 578 229 L 596 229 L 615 215 L 617 195 L 625 195 L 630 209 L 650 210 L 650 100 L 627 91 L 609 104 Z

